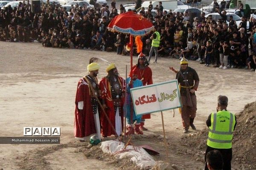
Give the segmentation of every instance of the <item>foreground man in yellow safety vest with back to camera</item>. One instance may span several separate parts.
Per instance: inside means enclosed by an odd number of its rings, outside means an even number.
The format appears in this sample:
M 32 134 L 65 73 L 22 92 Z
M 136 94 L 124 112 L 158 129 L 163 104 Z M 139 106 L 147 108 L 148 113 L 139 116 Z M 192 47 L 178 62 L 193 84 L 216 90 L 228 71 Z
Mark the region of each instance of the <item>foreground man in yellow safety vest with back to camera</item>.
M 217 113 L 211 113 L 206 121 L 209 134 L 205 155 L 211 150 L 219 150 L 223 157 L 223 170 L 231 170 L 232 139 L 236 127 L 236 116 L 227 111 L 227 103 L 227 96 L 218 96 Z M 207 163 L 204 170 L 209 170 Z

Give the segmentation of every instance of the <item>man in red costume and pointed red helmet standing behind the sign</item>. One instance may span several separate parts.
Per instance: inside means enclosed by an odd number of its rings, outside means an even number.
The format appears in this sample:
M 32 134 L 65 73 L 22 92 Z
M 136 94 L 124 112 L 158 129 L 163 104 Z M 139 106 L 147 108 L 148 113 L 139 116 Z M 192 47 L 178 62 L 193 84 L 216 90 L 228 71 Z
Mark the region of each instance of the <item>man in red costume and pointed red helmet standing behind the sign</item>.
M 138 63 L 133 66 L 132 70 L 139 73 L 138 79 L 140 79 L 143 82 L 143 85 L 151 85 L 153 84 L 152 80 L 152 71 L 151 68 L 148 67 L 148 60 L 146 59 L 145 55 L 143 53 L 140 53 L 138 56 Z M 131 72 L 130 72 L 131 77 Z M 140 129 L 141 130 L 148 130 L 144 127 L 145 125 L 145 119 L 150 119 L 150 114 L 144 114 L 142 116 L 141 122 L 140 122 Z

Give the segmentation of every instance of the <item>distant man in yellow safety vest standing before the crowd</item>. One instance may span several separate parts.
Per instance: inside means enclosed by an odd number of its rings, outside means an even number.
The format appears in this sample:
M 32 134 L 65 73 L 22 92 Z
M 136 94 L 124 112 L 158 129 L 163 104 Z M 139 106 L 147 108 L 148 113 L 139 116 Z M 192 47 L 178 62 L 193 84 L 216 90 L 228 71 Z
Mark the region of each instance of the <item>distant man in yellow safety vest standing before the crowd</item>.
M 160 34 L 157 31 L 157 26 L 154 26 L 154 34 L 152 34 L 152 36 L 150 37 L 150 40 L 152 40 L 152 44 L 151 44 L 151 49 L 149 52 L 149 56 L 148 56 L 148 62 L 150 62 L 150 59 L 152 57 L 153 51 L 155 52 L 155 60 L 154 63 L 157 63 L 157 56 L 158 56 L 158 47 L 160 44 Z

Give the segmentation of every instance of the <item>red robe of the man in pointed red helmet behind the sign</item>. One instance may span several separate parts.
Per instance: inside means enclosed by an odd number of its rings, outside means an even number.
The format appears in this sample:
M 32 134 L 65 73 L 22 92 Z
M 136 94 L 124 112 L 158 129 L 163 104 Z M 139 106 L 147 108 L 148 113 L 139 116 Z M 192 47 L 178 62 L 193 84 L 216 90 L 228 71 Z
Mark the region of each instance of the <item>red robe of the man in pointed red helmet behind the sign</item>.
M 143 85 L 153 84 L 151 68 L 149 67 L 139 68 L 137 67 L 137 65 L 134 65 L 132 67 L 132 70 L 134 69 L 136 69 L 137 73 L 140 73 L 138 75 L 138 79 L 140 79 L 143 82 Z M 130 72 L 130 75 L 131 75 L 131 72 Z M 144 114 L 141 119 L 150 119 L 150 118 L 151 118 L 150 114 Z

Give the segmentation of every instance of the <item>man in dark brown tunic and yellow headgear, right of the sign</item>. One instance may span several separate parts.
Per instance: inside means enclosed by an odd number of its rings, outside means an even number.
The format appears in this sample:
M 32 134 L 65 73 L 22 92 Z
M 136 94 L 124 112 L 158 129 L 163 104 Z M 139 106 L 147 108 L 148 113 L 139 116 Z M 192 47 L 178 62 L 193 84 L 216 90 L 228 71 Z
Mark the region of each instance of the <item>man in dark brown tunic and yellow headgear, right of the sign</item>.
M 188 67 L 188 60 L 183 57 L 180 60 L 180 71 L 176 74 L 176 79 L 180 84 L 180 95 L 182 101 L 181 108 L 181 119 L 183 124 L 183 133 L 188 133 L 189 126 L 195 130 L 195 125 L 193 124 L 196 113 L 196 96 L 195 91 L 199 85 L 199 77 L 197 72 Z

